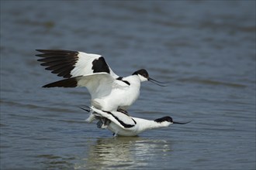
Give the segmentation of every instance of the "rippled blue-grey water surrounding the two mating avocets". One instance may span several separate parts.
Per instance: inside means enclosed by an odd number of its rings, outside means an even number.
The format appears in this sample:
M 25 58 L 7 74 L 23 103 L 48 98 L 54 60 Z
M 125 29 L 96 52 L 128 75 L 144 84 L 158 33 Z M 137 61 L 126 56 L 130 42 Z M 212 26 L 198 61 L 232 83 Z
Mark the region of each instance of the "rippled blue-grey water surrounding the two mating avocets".
M 254 1 L 1 1 L 1 169 L 255 169 Z M 113 138 L 85 123 L 85 88 L 35 49 L 102 54 L 119 76 L 145 68 L 134 117 L 168 128 Z

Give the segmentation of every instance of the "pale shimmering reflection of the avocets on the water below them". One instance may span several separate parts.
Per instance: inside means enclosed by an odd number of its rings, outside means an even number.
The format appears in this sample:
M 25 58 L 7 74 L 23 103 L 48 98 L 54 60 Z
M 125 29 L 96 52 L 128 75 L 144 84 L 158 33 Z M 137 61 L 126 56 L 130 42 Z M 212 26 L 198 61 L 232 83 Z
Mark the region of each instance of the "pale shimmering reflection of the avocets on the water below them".
M 162 159 L 171 151 L 171 141 L 140 137 L 99 138 L 75 168 L 139 168 Z M 163 161 L 163 160 L 161 160 Z

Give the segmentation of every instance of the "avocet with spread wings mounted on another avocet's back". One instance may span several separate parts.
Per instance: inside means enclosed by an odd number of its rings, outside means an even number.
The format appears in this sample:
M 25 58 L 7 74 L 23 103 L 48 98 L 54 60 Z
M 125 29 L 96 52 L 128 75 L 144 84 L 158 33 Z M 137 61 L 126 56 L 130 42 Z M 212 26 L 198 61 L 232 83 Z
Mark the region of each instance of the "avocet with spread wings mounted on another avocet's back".
M 36 56 L 46 70 L 52 70 L 64 80 L 43 87 L 87 87 L 91 104 L 100 110 L 126 110 L 140 95 L 140 83 L 150 81 L 161 85 L 148 76 L 147 70 L 135 71 L 131 76 L 117 76 L 103 56 L 62 49 L 36 49 Z

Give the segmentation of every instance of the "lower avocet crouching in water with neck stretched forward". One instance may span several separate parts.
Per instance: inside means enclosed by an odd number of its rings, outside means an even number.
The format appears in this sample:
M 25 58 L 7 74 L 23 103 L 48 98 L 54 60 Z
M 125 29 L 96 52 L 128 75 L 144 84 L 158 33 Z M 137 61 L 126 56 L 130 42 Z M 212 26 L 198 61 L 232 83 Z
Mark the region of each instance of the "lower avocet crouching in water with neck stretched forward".
M 168 127 L 171 124 L 188 124 L 189 122 L 180 123 L 172 121 L 172 118 L 169 116 L 161 117 L 153 121 L 138 118 L 130 117 L 126 111 L 105 111 L 99 110 L 95 107 L 89 107 L 89 109 L 84 109 L 90 112 L 90 116 L 86 121 L 89 123 L 95 119 L 99 120 L 98 128 L 108 128 L 109 131 L 112 131 L 114 136 L 137 136 L 144 131 L 155 128 L 164 128 Z

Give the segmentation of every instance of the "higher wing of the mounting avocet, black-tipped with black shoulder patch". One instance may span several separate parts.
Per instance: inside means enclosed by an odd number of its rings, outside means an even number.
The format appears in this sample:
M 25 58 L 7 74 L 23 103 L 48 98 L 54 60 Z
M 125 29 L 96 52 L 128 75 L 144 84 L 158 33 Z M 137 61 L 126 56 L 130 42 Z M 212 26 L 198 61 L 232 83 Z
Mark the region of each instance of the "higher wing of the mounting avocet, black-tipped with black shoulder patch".
M 46 70 L 64 78 L 85 76 L 92 73 L 109 73 L 113 78 L 119 76 L 114 73 L 103 56 L 63 49 L 36 49 L 41 57 L 38 61 Z

